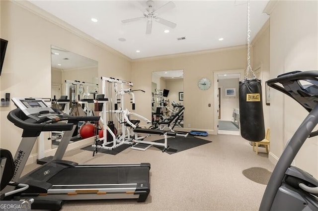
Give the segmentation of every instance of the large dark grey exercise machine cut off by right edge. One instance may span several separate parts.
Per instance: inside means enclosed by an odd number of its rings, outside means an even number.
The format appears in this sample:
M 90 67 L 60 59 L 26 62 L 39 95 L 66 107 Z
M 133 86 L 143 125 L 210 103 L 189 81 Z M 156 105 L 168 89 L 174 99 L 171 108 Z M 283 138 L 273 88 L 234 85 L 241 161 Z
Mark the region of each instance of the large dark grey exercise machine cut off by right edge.
M 267 81 L 301 104 L 309 115 L 288 141 L 269 179 L 260 211 L 317 211 L 318 180 L 306 171 L 291 166 L 307 138 L 318 135 L 318 71 L 294 71 Z

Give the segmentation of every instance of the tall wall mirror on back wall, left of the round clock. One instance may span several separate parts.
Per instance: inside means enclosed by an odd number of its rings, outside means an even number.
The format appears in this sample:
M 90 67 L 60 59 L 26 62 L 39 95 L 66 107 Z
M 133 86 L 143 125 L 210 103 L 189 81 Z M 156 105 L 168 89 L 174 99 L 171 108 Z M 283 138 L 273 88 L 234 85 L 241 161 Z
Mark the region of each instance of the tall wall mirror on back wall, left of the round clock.
M 152 73 L 152 121 L 173 118 L 183 107 L 183 70 L 166 70 Z M 175 122 L 183 127 L 183 115 Z

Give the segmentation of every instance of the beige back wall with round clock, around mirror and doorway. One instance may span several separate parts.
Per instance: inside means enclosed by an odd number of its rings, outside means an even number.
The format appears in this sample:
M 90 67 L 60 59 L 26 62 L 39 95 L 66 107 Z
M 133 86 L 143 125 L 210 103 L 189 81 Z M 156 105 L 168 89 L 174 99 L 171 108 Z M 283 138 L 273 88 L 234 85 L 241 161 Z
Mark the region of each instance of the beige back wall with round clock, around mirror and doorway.
M 152 72 L 183 69 L 184 127 L 186 130 L 198 129 L 214 133 L 214 86 L 203 91 L 198 88 L 197 83 L 202 77 L 209 78 L 213 82 L 214 71 L 244 69 L 245 66 L 245 47 L 140 59 L 132 62 L 132 81 L 136 89 L 151 93 Z M 140 78 L 144 80 L 141 81 Z M 151 95 L 144 95 L 141 101 L 151 102 Z M 208 104 L 211 104 L 211 107 Z M 150 118 L 151 107 L 148 104 L 139 105 L 136 112 Z

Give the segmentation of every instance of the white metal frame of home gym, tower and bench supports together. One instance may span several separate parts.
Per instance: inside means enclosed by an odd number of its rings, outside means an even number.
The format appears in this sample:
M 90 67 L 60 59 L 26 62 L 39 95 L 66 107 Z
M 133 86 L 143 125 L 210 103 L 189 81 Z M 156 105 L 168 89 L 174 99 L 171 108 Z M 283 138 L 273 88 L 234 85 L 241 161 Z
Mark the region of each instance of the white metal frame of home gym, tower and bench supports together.
M 101 145 L 97 145 L 96 143 L 92 145 L 94 148 L 100 148 L 100 149 L 107 149 L 107 150 L 113 150 L 116 147 L 119 147 L 123 144 L 130 144 L 132 145 L 132 149 L 135 150 L 146 150 L 146 149 L 141 149 L 138 147 L 135 147 L 137 144 L 147 144 L 149 146 L 157 145 L 164 147 L 164 150 L 168 148 L 167 145 L 167 137 L 168 136 L 174 136 L 174 134 L 171 134 L 170 131 L 159 131 L 159 130 L 153 130 L 153 129 L 141 129 L 137 128 L 137 125 L 134 124 L 131 121 L 131 116 L 136 116 L 139 119 L 143 119 L 144 121 L 147 122 L 147 124 L 151 124 L 151 121 L 148 120 L 146 117 L 139 115 L 134 112 L 130 112 L 127 108 L 125 107 L 125 94 L 129 94 L 131 96 L 131 104 L 132 104 L 132 109 L 135 109 L 135 95 L 133 93 L 133 90 L 131 89 L 133 87 L 133 83 L 120 80 L 120 79 L 114 79 L 114 78 L 107 78 L 107 77 L 101 77 L 101 82 L 102 82 L 102 94 L 104 96 L 107 95 L 109 101 L 98 101 L 96 100 L 95 103 L 102 103 L 102 111 L 101 111 L 101 118 L 100 121 L 103 125 L 103 137 L 99 138 L 98 141 L 103 141 Z M 108 84 L 107 84 L 108 83 Z M 107 85 L 109 87 L 108 93 L 107 93 Z M 118 84 L 120 84 L 120 91 L 118 90 Z M 108 105 L 110 109 L 106 110 L 107 103 L 112 104 L 113 99 L 112 99 L 112 85 L 115 91 L 115 99 L 116 99 L 116 104 L 115 104 L 115 109 L 112 109 L 112 106 Z M 126 87 L 125 87 L 126 86 Z M 128 88 L 127 88 L 128 86 Z M 118 106 L 120 105 L 120 106 Z M 115 117 L 117 121 L 120 124 L 120 129 L 121 129 L 121 134 L 120 136 L 114 134 L 114 132 L 111 130 L 111 128 L 107 124 L 107 113 L 108 117 L 111 117 L 113 114 L 115 114 Z M 133 131 L 129 130 L 129 127 L 133 129 Z M 107 140 L 107 132 L 112 136 L 112 140 L 108 141 Z M 139 133 L 144 134 L 143 136 L 138 136 Z M 145 135 L 147 134 L 147 135 Z M 143 139 L 147 138 L 150 136 L 150 134 L 155 134 L 155 135 L 163 135 L 164 136 L 164 143 L 157 143 L 157 142 L 150 142 L 150 141 L 143 141 Z M 112 145 L 111 145 L 112 144 Z M 147 148 L 148 149 L 148 148 Z

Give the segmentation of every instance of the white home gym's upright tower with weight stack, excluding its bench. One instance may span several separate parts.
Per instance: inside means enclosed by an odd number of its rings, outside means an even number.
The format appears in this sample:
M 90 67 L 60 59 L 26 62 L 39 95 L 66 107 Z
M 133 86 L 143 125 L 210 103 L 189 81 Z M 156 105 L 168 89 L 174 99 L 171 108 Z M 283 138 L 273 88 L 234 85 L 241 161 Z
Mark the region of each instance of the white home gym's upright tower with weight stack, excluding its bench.
M 103 137 L 100 137 L 98 144 L 95 143 L 92 147 L 113 150 L 123 144 L 133 145 L 131 137 L 133 134 L 129 127 L 135 128 L 140 120 L 131 120 L 130 117 L 134 115 L 146 121 L 147 124 L 151 123 L 147 118 L 125 108 L 125 102 L 128 100 L 125 99 L 125 96 L 128 94 L 132 109 L 135 109 L 135 95 L 134 90 L 131 89 L 133 83 L 121 79 L 101 77 L 101 84 L 102 96 L 107 96 L 108 100 L 97 99 L 95 103 L 102 105 L 100 121 Z

